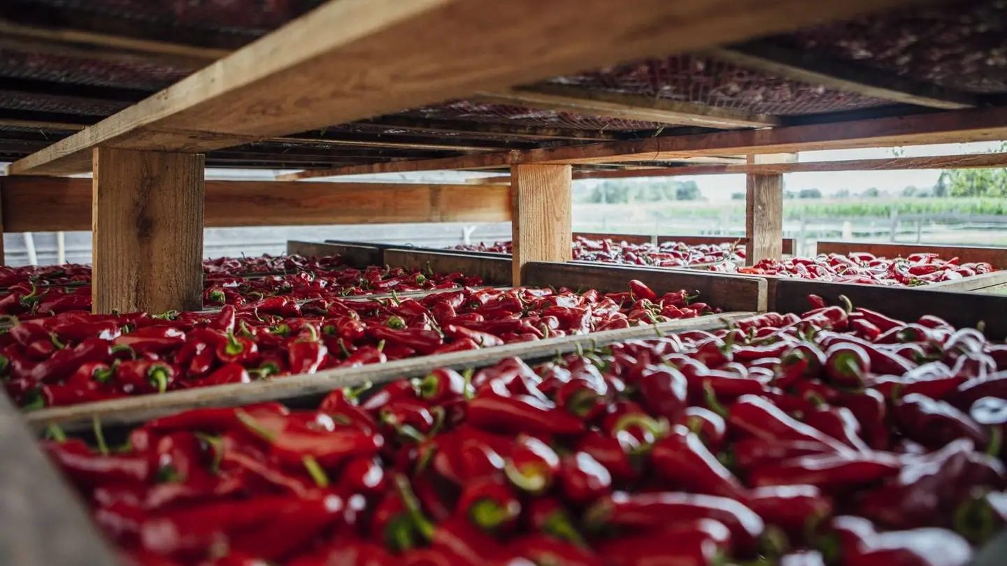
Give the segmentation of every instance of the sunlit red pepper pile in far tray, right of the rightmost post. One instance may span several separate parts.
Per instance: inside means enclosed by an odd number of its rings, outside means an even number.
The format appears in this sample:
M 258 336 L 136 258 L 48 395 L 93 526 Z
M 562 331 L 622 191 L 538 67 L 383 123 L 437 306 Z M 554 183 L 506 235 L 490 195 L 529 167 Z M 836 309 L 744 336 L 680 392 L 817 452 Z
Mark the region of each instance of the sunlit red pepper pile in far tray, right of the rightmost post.
M 873 254 L 822 254 L 815 258 L 790 258 L 783 261 L 762 260 L 752 267 L 734 264 L 714 266 L 715 271 L 750 275 L 777 275 L 836 283 L 865 285 L 928 285 L 996 271 L 986 262 L 961 263 L 958 258 L 943 260 L 937 254 L 910 254 L 893 260 Z

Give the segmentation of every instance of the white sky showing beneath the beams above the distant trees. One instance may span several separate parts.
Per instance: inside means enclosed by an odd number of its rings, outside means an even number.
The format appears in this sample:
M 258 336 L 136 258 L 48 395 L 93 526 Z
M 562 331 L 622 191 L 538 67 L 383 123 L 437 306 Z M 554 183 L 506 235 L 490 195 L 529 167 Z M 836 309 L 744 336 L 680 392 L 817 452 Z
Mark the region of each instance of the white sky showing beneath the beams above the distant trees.
M 898 148 L 900 156 L 925 157 L 930 155 L 955 155 L 960 153 L 986 153 L 1001 150 L 1001 142 L 979 142 L 963 144 L 920 145 Z M 843 159 L 877 159 L 892 157 L 892 148 L 874 149 L 842 149 L 829 151 L 804 151 L 799 155 L 801 161 L 839 161 Z M 803 188 L 818 188 L 823 196 L 829 196 L 843 188 L 850 192 L 861 192 L 876 186 L 892 194 L 897 194 L 908 185 L 919 187 L 933 186 L 940 170 L 916 171 L 841 171 L 827 173 L 787 173 L 783 182 L 787 190 L 798 192 Z M 694 180 L 699 185 L 703 197 L 708 200 L 728 200 L 733 192 L 745 190 L 744 175 L 695 175 L 675 177 L 677 180 Z M 626 179 L 630 180 L 630 179 Z M 648 179 L 639 179 L 648 182 Z M 578 182 L 601 182 L 600 180 Z

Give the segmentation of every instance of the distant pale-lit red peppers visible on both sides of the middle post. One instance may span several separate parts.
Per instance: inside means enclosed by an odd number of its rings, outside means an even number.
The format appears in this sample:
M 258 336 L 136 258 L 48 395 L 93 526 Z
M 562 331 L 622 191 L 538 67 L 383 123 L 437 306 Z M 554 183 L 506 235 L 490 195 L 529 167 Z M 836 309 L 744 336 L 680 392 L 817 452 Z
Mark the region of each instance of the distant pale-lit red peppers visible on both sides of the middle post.
M 512 243 L 497 242 L 491 246 L 459 245 L 454 250 L 511 254 Z M 743 246 L 736 243 L 689 246 L 682 242 L 663 244 L 630 244 L 611 239 L 591 240 L 578 236 L 573 242 L 573 259 L 588 262 L 639 265 L 649 267 L 686 267 L 717 262 L 744 261 Z

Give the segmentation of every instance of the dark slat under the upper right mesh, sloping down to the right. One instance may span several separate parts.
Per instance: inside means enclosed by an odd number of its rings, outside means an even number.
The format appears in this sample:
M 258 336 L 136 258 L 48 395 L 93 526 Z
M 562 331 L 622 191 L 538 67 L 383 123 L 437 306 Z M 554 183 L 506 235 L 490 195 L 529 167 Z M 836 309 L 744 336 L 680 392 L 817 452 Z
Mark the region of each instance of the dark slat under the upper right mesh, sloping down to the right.
M 821 85 L 838 91 L 929 108 L 956 110 L 980 106 L 978 96 L 918 83 L 894 73 L 829 59 L 814 51 L 792 50 L 768 41 L 710 49 L 714 58 L 783 79 Z

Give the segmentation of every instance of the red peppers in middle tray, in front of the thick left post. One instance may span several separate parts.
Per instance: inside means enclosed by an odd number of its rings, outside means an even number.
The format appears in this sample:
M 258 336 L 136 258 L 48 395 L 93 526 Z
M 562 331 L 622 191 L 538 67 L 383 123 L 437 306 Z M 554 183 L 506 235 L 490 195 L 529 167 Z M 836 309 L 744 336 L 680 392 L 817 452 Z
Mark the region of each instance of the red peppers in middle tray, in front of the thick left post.
M 63 312 L 0 333 L 0 380 L 27 410 L 648 325 L 719 311 L 686 291 L 465 287 L 419 298 L 273 296 L 220 312 Z

